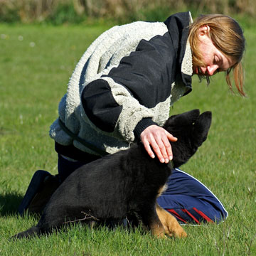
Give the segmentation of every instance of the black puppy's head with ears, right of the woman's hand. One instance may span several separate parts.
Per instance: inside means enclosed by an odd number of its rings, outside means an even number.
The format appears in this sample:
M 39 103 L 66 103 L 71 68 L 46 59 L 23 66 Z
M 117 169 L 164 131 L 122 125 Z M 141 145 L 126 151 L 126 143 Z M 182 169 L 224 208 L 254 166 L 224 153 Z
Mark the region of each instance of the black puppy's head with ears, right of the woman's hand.
M 185 164 L 203 144 L 210 129 L 211 119 L 210 111 L 200 114 L 199 110 L 169 117 L 164 124 L 164 129 L 178 138 L 177 142 L 171 142 L 174 168 Z

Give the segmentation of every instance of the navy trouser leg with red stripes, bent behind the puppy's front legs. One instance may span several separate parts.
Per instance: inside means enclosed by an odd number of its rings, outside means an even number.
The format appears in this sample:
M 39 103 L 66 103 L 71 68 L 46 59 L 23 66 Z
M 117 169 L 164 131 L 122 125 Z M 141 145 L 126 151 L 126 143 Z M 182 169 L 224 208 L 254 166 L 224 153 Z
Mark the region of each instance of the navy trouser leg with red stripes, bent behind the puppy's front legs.
M 219 223 L 228 217 L 218 198 L 203 183 L 184 171 L 174 169 L 167 186 L 157 202 L 180 223 Z

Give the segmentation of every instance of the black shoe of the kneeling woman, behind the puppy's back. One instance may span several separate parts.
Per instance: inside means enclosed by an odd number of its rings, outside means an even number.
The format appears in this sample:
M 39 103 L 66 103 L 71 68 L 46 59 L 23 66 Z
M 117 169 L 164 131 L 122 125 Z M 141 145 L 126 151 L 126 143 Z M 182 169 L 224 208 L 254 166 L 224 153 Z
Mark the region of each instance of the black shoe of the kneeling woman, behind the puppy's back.
M 58 186 L 60 186 L 58 175 L 53 176 L 48 171 L 43 170 L 36 171 L 21 201 L 21 205 L 18 207 L 18 213 L 23 215 L 28 210 L 28 213 L 41 214 L 50 196 Z

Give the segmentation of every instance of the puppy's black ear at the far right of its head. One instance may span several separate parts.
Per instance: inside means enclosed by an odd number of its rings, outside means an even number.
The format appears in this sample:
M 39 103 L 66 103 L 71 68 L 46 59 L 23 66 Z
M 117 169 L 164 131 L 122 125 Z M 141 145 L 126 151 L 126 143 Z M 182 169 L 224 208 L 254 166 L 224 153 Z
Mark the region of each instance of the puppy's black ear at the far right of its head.
M 196 120 L 195 124 L 193 125 L 192 132 L 194 146 L 201 146 L 201 144 L 203 144 L 203 142 L 206 140 L 210 129 L 211 119 L 212 113 L 210 111 L 206 111 L 203 112 L 203 114 L 201 114 Z

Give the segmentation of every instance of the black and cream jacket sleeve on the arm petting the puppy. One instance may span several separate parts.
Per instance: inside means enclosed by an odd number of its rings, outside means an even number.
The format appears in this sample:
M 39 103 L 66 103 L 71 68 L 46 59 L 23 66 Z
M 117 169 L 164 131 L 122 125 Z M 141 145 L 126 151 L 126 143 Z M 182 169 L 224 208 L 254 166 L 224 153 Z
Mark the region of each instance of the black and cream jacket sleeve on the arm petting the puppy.
M 90 122 L 128 142 L 157 124 L 156 105 L 171 95 L 174 80 L 175 55 L 169 48 L 168 36 L 142 40 L 117 67 L 86 85 L 81 101 Z

